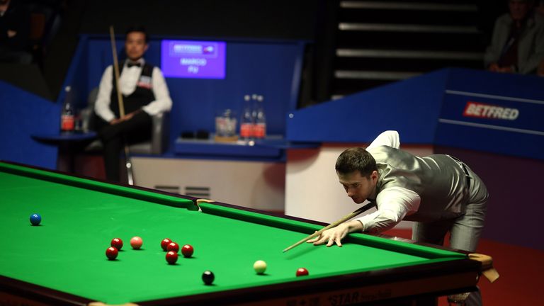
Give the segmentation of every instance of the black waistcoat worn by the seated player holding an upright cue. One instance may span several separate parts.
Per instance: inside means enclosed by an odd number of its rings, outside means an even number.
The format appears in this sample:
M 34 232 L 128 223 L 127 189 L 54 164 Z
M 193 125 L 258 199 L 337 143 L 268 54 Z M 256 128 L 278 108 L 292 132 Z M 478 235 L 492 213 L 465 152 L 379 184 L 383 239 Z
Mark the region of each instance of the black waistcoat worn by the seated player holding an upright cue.
M 120 62 L 119 67 L 119 75 L 121 75 L 121 72 L 123 72 L 123 67 L 125 67 L 125 62 Z M 113 89 L 111 90 L 110 108 L 111 111 L 115 113 L 115 116 L 119 118 L 119 103 L 117 99 L 117 88 L 115 86 L 115 70 L 113 70 L 113 74 Z M 144 64 L 144 67 L 142 67 L 142 74 L 140 74 L 135 91 L 129 96 L 123 95 L 125 115 L 132 113 L 133 111 L 137 111 L 155 100 L 155 95 L 153 94 L 152 74 L 153 66 L 147 63 Z

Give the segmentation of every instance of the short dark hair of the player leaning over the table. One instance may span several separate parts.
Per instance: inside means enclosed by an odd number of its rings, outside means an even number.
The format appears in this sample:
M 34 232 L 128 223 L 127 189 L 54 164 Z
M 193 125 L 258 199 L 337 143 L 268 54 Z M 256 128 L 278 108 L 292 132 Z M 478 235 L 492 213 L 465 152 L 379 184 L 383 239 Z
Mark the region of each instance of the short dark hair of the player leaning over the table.
M 374 157 L 361 147 L 344 150 L 336 159 L 335 168 L 339 174 L 351 174 L 354 171 L 359 171 L 361 176 L 365 177 L 378 170 Z

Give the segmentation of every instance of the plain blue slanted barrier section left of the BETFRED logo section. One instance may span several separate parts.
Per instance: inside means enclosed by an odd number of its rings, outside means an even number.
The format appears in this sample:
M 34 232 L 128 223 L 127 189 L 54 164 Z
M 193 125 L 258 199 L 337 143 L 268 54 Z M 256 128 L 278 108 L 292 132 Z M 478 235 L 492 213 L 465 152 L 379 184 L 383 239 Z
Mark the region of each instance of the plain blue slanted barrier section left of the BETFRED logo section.
M 441 111 L 447 72 L 370 89 L 294 111 L 287 138 L 298 142 L 369 142 L 399 130 L 403 143 L 430 144 Z

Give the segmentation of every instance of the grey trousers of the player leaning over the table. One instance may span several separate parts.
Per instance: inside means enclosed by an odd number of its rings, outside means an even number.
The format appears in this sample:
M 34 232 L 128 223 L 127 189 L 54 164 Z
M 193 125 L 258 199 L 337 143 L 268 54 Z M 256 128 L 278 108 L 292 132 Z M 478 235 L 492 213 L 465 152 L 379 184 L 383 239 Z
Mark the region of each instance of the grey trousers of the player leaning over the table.
M 465 165 L 466 166 L 466 165 Z M 418 242 L 443 245 L 444 236 L 450 232 L 450 247 L 463 251 L 476 251 L 476 246 L 484 228 L 485 211 L 487 209 L 487 188 L 485 184 L 466 166 L 470 176 L 470 197 L 465 215 L 453 220 L 437 222 L 414 222 L 412 239 Z M 480 290 L 470 293 L 465 305 L 482 305 Z

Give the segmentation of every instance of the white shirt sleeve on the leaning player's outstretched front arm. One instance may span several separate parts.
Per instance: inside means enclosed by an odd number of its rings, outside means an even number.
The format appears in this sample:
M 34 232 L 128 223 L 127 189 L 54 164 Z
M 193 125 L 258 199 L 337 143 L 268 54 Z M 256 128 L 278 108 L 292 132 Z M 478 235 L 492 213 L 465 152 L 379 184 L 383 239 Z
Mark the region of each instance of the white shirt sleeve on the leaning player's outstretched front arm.
M 385 188 L 376 197 L 378 210 L 356 220 L 363 224 L 363 232 L 384 232 L 417 212 L 420 202 L 419 195 L 407 188 Z

